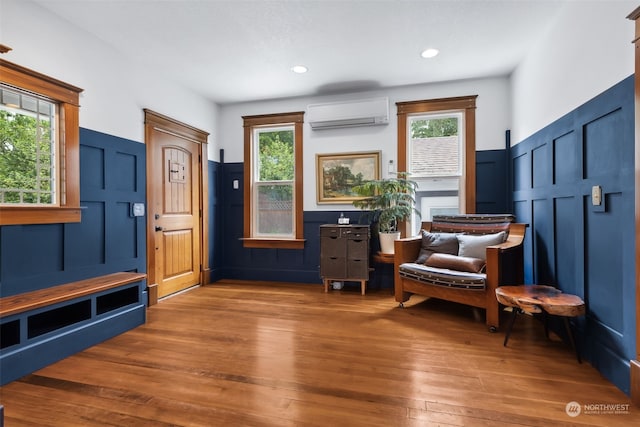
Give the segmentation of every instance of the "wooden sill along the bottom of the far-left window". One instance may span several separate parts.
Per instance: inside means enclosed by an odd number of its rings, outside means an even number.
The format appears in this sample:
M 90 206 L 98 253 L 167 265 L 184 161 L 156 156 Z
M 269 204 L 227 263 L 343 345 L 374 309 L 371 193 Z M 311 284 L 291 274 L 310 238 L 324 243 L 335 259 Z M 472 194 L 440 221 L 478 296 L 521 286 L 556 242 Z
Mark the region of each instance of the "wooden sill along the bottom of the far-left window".
M 80 222 L 80 208 L 69 207 L 0 207 L 0 225 L 59 224 Z

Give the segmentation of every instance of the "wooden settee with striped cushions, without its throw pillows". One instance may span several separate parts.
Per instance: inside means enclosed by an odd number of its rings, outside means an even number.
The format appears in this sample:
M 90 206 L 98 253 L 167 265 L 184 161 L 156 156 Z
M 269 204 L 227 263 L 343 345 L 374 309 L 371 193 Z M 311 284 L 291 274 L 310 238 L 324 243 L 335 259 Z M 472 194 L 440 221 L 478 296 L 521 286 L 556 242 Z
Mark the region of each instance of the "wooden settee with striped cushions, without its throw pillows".
M 421 235 L 395 242 L 394 291 L 400 306 L 412 294 L 453 301 L 486 310 L 486 324 L 495 332 L 500 327 L 499 304 L 495 289 L 501 285 L 524 283 L 523 241 L 526 224 L 514 222 L 512 215 L 452 215 L 434 216 L 433 221 L 423 222 Z M 504 232 L 504 241 L 484 249 L 486 266 L 478 272 L 443 268 L 441 264 L 429 266 L 429 261 L 419 260 L 424 250 L 425 236 L 496 236 Z M 442 234 L 444 233 L 444 234 Z M 457 248 L 455 250 L 458 250 Z M 453 252 L 455 252 L 455 250 Z M 455 258 L 455 254 L 445 255 Z M 463 257 L 470 258 L 470 257 Z M 416 262 L 422 261 L 422 262 Z M 456 260 L 456 266 L 458 260 Z

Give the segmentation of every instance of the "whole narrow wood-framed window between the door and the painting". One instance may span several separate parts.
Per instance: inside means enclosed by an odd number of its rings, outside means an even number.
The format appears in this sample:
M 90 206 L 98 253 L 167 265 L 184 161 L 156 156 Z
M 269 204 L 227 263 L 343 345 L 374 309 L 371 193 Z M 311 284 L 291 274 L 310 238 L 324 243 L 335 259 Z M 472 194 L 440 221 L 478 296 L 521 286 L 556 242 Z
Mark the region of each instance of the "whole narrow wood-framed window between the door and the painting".
M 245 116 L 244 246 L 304 247 L 304 113 Z

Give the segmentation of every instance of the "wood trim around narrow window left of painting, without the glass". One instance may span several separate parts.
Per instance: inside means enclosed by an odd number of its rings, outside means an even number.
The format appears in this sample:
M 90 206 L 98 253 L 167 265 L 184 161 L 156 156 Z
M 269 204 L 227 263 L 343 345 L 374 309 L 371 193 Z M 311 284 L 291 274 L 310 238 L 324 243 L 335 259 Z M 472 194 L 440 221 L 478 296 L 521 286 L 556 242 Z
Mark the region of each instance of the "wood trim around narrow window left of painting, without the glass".
M 302 168 L 302 128 L 304 124 L 304 112 L 262 114 L 255 116 L 243 116 L 244 127 L 244 223 L 242 244 L 245 248 L 267 249 L 304 249 L 304 222 L 303 222 L 303 168 Z M 253 237 L 253 149 L 252 133 L 256 126 L 294 125 L 295 139 L 295 171 L 294 171 L 294 215 L 296 234 L 293 239 L 273 239 Z

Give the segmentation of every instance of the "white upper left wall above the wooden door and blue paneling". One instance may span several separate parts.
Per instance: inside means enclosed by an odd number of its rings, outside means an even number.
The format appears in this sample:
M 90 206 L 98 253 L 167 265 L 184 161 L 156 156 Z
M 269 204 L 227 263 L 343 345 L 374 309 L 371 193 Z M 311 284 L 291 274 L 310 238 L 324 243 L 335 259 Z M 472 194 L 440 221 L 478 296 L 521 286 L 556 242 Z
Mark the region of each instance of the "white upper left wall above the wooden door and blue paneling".
M 3 59 L 81 87 L 80 126 L 144 141 L 143 108 L 209 132 L 215 144 L 218 107 L 145 70 L 91 34 L 28 0 L 0 0 Z

